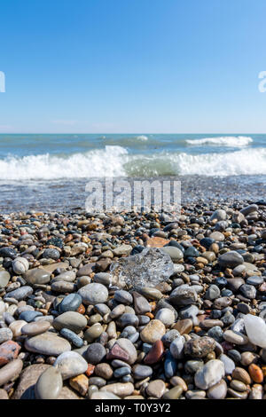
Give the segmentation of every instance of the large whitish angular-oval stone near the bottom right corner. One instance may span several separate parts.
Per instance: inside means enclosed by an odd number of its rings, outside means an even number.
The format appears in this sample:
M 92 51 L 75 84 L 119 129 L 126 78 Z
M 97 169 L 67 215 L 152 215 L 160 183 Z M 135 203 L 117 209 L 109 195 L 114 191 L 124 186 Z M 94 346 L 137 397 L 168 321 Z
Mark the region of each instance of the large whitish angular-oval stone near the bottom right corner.
M 211 359 L 196 372 L 194 382 L 200 389 L 209 389 L 216 383 L 220 382 L 223 376 L 223 362 L 219 359 Z

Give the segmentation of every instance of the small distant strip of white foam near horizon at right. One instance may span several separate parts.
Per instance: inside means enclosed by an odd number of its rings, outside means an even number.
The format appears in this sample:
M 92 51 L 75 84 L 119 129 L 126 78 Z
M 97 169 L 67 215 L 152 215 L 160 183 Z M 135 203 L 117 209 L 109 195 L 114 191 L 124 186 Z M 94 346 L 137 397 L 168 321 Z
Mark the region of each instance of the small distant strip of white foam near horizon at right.
M 242 147 L 248 146 L 253 142 L 253 138 L 246 136 L 221 136 L 217 138 L 187 139 L 189 145 L 212 145 L 212 146 L 231 146 Z

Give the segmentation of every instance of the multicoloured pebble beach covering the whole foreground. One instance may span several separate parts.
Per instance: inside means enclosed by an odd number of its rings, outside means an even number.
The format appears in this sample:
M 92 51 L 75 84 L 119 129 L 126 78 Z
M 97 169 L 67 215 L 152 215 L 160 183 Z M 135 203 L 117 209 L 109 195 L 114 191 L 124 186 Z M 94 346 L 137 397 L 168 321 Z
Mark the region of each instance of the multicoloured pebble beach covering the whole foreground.
M 266 202 L 0 216 L 1 399 L 266 398 Z

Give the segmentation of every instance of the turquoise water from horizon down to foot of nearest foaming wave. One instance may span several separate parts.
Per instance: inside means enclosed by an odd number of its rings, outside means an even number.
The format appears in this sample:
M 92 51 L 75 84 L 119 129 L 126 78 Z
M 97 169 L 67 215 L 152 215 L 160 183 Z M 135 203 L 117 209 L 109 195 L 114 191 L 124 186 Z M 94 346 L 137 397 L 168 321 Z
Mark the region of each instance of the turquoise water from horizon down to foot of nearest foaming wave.
M 266 135 L 0 135 L 0 178 L 266 175 Z

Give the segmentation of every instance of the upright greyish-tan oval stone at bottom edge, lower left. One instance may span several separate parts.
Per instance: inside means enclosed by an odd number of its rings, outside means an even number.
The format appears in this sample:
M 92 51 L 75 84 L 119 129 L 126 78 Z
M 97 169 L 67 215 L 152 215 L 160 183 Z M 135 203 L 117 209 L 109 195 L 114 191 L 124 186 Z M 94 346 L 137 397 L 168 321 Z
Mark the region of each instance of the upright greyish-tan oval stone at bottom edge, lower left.
M 59 369 L 50 366 L 35 384 L 35 397 L 38 399 L 57 399 L 63 387 Z

